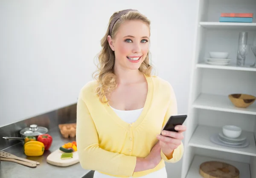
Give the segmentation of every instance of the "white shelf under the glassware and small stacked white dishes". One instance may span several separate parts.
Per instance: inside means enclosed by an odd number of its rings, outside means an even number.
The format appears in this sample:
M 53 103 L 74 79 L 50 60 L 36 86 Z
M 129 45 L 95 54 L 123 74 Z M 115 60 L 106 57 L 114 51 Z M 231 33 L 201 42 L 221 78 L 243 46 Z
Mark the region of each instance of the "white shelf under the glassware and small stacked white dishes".
M 196 64 L 196 67 L 197 68 L 212 68 L 212 69 L 224 69 L 224 70 L 234 70 L 234 71 L 255 71 L 256 72 L 256 67 L 250 67 L 249 65 L 239 67 L 239 66 L 236 66 L 236 64 L 210 65 L 207 63 L 198 63 L 198 64 Z

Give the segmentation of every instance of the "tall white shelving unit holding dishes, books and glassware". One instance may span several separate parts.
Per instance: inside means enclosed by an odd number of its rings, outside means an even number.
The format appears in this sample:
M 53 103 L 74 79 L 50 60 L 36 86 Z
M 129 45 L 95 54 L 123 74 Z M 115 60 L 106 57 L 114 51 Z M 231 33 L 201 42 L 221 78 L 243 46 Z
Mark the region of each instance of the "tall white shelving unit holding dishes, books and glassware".
M 240 178 L 256 178 L 256 102 L 247 108 L 234 106 L 228 95 L 247 93 L 256 96 L 256 68 L 252 52 L 246 65 L 236 65 L 238 37 L 247 31 L 248 43 L 256 34 L 256 0 L 198 0 L 195 48 L 189 96 L 187 131 L 181 178 L 201 178 L 199 166 L 205 161 L 224 161 L 237 167 Z M 220 23 L 222 12 L 253 13 L 253 23 Z M 230 53 L 230 65 L 209 65 L 209 51 Z M 214 144 L 210 136 L 222 126 L 241 127 L 249 145 L 234 148 Z

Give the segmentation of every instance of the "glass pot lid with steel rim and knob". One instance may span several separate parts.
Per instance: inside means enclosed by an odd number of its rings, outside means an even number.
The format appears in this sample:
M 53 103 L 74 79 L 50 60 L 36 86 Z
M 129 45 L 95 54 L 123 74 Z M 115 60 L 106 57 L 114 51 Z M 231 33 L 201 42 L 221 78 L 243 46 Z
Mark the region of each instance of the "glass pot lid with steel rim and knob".
M 46 127 L 37 126 L 32 124 L 29 127 L 23 128 L 20 130 L 20 135 L 23 136 L 39 136 L 48 132 Z

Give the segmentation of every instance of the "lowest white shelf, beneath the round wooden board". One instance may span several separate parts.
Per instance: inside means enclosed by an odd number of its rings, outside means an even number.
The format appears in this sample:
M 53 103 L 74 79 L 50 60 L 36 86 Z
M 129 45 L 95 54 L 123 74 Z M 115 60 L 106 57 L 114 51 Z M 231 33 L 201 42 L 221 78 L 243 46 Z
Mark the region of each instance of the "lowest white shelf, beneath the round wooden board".
M 240 178 L 250 178 L 250 165 L 249 164 L 235 162 L 235 161 L 221 160 L 221 159 L 216 159 L 216 158 L 210 158 L 210 157 L 200 156 L 200 155 L 195 155 L 195 157 L 193 158 L 191 167 L 189 168 L 189 172 L 186 175 L 186 178 L 201 178 L 202 176 L 199 173 L 199 167 L 200 167 L 200 164 L 202 164 L 205 161 L 223 161 L 227 164 L 231 164 L 239 170 Z

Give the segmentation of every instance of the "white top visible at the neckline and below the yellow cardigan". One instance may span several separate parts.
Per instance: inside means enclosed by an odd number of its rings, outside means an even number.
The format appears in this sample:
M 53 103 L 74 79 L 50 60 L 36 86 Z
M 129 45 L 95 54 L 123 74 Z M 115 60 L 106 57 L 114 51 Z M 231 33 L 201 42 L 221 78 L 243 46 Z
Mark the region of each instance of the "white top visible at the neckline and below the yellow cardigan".
M 120 119 L 122 119 L 123 121 L 125 121 L 129 124 L 135 122 L 139 118 L 139 116 L 143 110 L 143 108 L 140 108 L 137 110 L 117 110 L 113 107 L 111 107 L 111 108 L 115 111 L 116 115 L 119 116 Z M 98 171 L 95 171 L 93 178 L 118 178 L 118 177 L 105 175 L 105 174 L 99 173 Z M 167 178 L 166 168 L 163 167 L 161 170 L 152 172 L 152 173 L 145 175 L 141 178 Z

